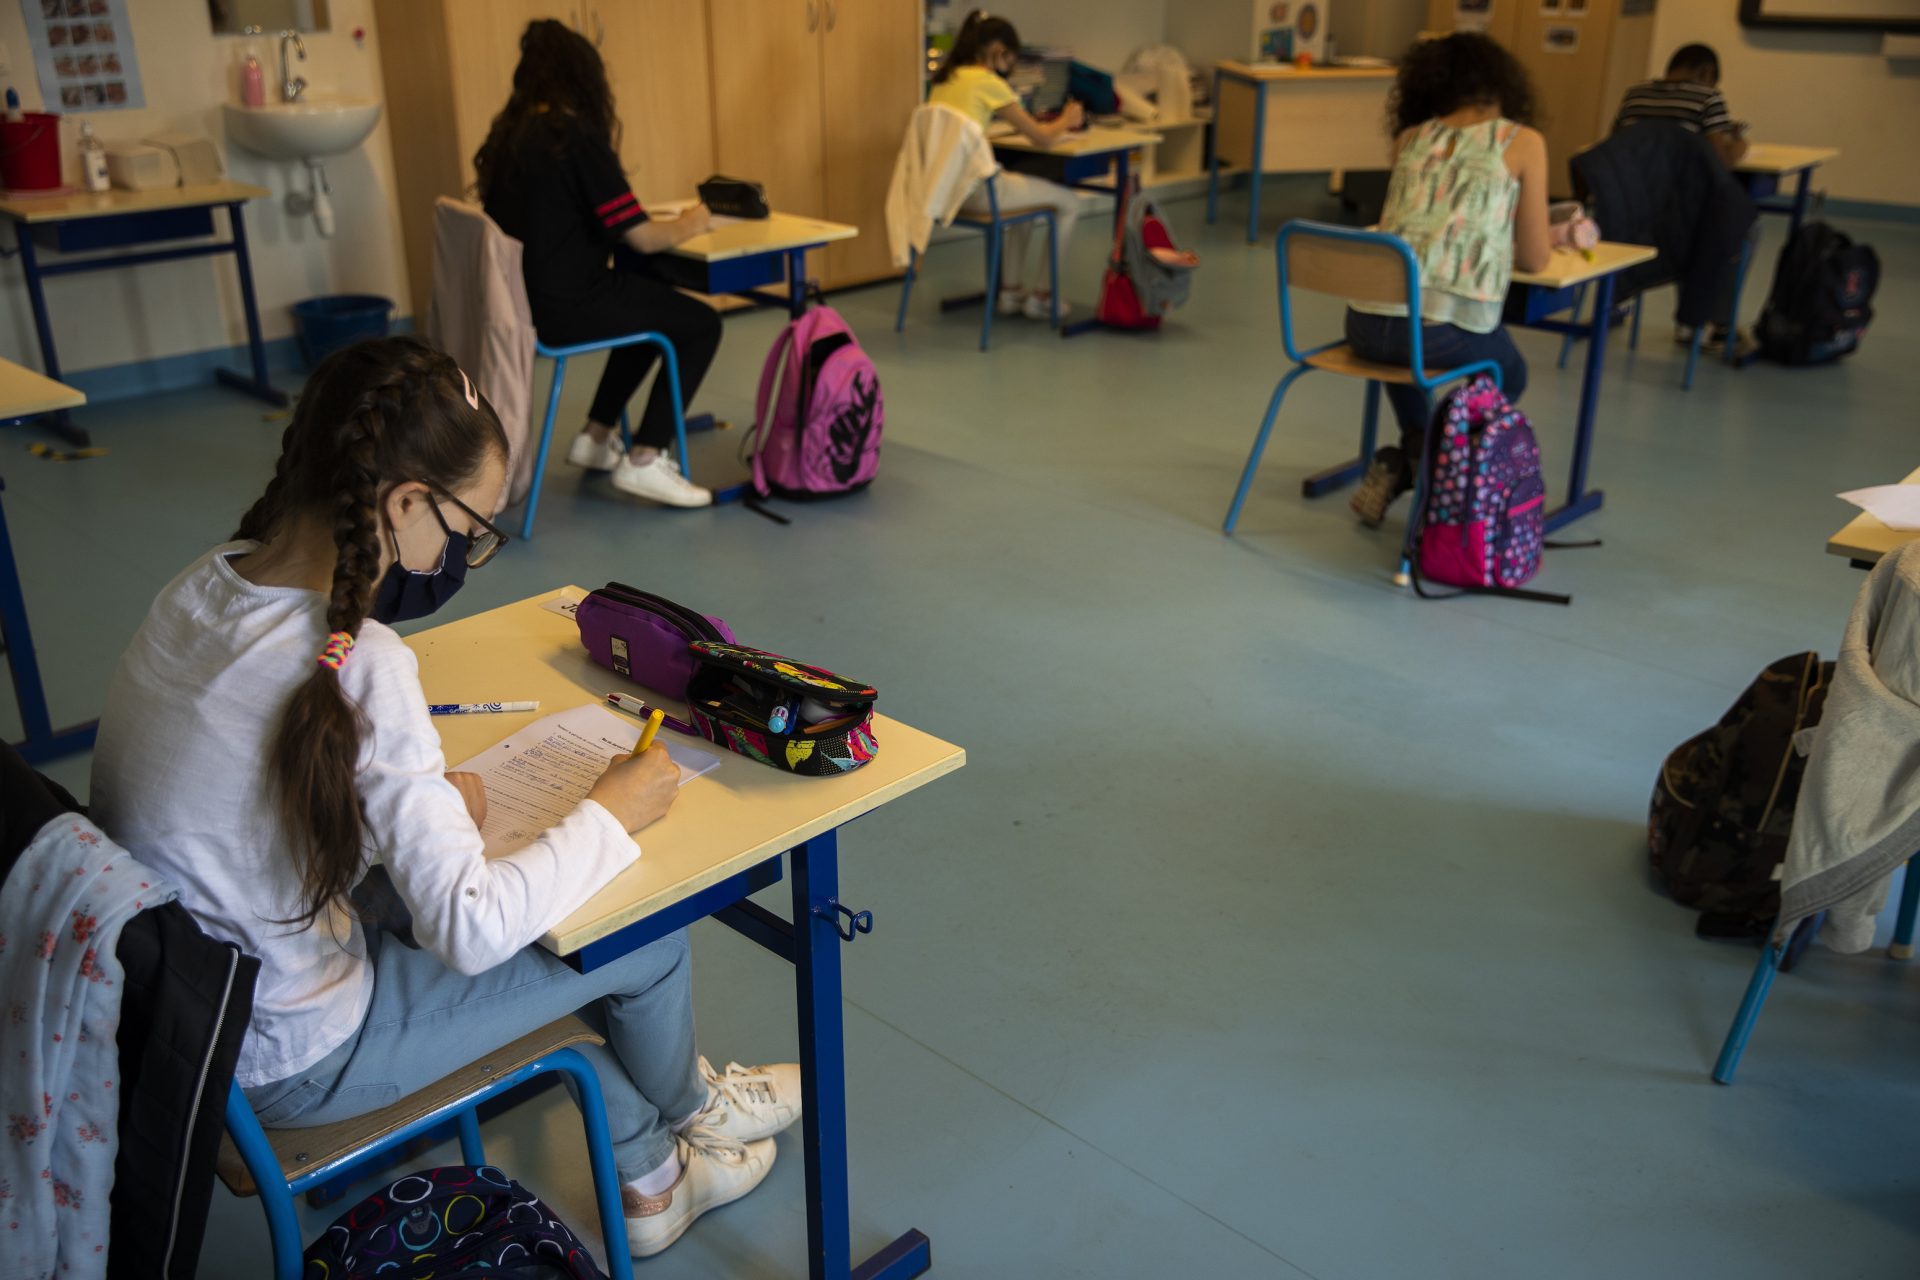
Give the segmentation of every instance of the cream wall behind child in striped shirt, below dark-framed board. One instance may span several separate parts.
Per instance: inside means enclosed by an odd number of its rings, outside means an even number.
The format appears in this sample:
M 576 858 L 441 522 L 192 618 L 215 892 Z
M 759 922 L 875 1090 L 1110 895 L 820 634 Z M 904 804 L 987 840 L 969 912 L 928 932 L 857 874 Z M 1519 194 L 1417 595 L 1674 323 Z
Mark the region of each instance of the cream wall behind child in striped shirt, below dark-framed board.
M 1690 40 L 1720 54 L 1720 88 L 1734 119 L 1763 142 L 1837 146 L 1843 155 L 1814 173 L 1836 200 L 1920 205 L 1920 61 L 1887 59 L 1878 35 L 1761 31 L 1741 27 L 1732 0 L 1661 4 L 1653 65 Z

